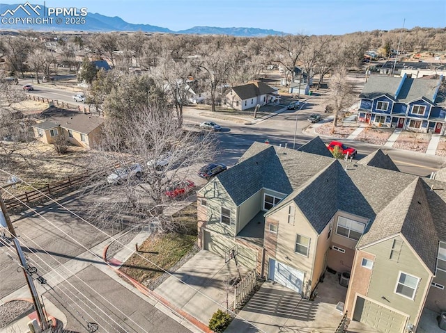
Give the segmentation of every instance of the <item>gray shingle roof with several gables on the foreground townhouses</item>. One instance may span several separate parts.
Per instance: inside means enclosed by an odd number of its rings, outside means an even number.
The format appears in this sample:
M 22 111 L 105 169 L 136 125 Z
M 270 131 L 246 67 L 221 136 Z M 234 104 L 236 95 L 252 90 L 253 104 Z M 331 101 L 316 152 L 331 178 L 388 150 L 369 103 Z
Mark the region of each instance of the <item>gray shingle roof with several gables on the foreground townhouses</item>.
M 319 233 L 336 211 L 369 218 L 358 245 L 401 233 L 433 270 L 438 240 L 446 241 L 446 184 L 397 172 L 387 158 L 378 150 L 351 163 L 254 143 L 217 179 L 237 205 L 261 188 L 286 194 L 266 216 L 293 200 Z

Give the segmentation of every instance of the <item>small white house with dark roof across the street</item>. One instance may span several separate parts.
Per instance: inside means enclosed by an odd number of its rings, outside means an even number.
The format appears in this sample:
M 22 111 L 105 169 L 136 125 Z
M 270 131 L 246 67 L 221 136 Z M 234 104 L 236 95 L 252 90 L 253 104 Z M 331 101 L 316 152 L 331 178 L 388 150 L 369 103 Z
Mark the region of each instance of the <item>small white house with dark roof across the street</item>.
M 262 81 L 252 81 L 243 86 L 232 87 L 223 98 L 223 106 L 236 110 L 255 108 L 279 99 L 277 90 Z

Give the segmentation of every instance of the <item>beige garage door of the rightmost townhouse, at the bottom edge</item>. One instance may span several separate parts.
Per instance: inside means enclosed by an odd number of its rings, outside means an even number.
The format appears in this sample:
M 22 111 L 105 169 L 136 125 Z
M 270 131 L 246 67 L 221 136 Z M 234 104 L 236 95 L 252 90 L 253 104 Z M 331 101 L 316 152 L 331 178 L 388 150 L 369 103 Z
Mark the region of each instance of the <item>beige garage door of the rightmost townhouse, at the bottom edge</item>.
M 407 317 L 376 302 L 357 296 L 353 320 L 370 325 L 377 332 L 401 333 L 406 327 Z

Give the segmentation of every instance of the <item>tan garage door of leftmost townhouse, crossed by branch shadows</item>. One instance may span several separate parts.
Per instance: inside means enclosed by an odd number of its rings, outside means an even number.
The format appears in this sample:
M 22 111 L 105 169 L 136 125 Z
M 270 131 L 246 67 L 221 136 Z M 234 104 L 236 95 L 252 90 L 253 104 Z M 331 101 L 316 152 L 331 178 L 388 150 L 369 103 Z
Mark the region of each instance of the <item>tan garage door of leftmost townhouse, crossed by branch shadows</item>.
M 203 232 L 203 248 L 225 258 L 226 252 L 237 248 L 237 262 L 249 269 L 256 268 L 257 252 L 242 245 L 236 245 L 231 238 L 220 236 L 208 231 Z

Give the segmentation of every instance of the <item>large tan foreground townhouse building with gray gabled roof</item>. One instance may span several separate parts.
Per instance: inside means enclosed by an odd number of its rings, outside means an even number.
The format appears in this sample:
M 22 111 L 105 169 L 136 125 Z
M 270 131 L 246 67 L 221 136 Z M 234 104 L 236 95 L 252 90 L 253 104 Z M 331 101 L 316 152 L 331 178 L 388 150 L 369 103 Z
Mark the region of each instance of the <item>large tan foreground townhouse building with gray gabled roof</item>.
M 321 143 L 249 147 L 197 192 L 199 245 L 303 298 L 337 273 L 349 318 L 415 332 L 424 311 L 446 309 L 445 183 L 380 150 L 350 162 Z

